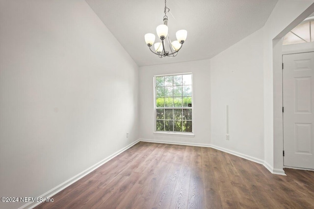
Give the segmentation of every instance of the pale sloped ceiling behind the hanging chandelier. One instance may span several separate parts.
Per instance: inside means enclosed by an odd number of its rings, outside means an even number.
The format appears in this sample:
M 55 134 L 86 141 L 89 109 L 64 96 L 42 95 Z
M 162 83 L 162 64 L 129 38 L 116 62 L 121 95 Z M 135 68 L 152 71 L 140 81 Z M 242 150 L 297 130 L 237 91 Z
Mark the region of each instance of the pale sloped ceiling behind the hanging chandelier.
M 170 39 L 179 29 L 187 38 L 176 57 L 159 58 L 144 35 L 162 24 L 164 0 L 86 0 L 138 66 L 209 59 L 261 28 L 277 1 L 167 0 Z

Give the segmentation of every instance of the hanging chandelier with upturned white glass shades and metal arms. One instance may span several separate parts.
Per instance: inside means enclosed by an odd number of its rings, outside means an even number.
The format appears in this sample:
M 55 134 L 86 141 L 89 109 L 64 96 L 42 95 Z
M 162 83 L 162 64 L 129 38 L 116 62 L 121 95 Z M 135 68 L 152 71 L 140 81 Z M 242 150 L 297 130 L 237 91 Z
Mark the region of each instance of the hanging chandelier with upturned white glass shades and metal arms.
M 179 50 L 181 50 L 183 43 L 186 39 L 187 31 L 186 30 L 178 30 L 176 32 L 177 40 L 171 42 L 169 35 L 168 35 L 168 16 L 167 12 L 170 9 L 166 6 L 165 0 L 165 15 L 163 16 L 163 24 L 157 26 L 157 36 L 160 38 L 161 42 L 155 43 L 155 35 L 153 33 L 146 33 L 145 34 L 145 42 L 151 52 L 157 54 L 160 58 L 169 56 L 174 57 L 178 54 Z M 152 46 L 154 44 L 155 52 L 152 50 Z

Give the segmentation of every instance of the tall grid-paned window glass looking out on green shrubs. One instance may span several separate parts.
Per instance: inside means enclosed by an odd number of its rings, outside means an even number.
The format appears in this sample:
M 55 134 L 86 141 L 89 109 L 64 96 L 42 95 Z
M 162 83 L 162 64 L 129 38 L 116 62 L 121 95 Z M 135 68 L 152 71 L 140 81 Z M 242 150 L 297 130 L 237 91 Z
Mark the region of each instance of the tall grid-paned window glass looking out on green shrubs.
M 192 132 L 192 74 L 155 76 L 155 131 Z

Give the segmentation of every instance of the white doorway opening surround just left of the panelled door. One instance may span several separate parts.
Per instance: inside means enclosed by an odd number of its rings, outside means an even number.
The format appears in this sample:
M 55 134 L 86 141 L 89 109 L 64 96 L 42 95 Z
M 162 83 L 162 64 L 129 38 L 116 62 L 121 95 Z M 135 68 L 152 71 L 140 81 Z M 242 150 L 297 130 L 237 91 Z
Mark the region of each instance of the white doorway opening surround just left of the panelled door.
M 288 21 L 290 23 L 287 23 L 288 25 L 275 35 L 275 37 L 269 37 L 272 42 L 272 44 L 269 43 L 269 47 L 272 47 L 272 61 L 269 63 L 269 66 L 264 66 L 264 109 L 265 111 L 269 111 L 269 114 L 264 113 L 264 123 L 268 123 L 270 127 L 264 127 L 265 137 L 269 137 L 267 142 L 265 139 L 264 158 L 266 167 L 268 166 L 273 174 L 286 175 L 283 169 L 282 39 L 290 30 L 304 21 L 313 12 L 314 3 L 312 2 L 294 20 L 290 20 L 291 22 Z M 268 63 L 265 62 L 265 64 L 267 65 Z M 267 71 L 268 67 L 270 68 L 269 72 Z M 267 95 L 266 93 L 271 95 Z

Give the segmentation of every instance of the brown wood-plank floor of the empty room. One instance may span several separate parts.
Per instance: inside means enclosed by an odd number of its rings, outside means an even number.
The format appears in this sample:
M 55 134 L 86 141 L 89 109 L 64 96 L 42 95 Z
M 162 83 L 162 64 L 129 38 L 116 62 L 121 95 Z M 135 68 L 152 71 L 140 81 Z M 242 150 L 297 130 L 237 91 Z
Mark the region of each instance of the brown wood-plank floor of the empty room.
M 285 172 L 212 148 L 140 142 L 36 209 L 314 209 L 314 172 Z

